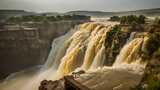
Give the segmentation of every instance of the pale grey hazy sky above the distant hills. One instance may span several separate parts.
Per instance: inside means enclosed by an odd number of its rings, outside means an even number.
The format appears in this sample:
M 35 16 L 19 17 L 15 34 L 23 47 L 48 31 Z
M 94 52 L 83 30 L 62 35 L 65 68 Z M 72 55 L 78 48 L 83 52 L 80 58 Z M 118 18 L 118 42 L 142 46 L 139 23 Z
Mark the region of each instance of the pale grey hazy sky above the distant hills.
M 0 9 L 36 12 L 125 11 L 160 7 L 160 0 L 0 0 Z

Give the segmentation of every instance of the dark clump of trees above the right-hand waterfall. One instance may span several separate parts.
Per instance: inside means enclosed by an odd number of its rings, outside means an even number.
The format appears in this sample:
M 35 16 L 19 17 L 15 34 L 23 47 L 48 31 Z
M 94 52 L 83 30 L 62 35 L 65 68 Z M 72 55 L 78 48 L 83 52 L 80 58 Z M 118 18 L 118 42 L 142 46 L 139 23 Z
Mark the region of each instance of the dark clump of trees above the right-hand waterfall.
M 128 15 L 128 16 L 113 16 L 110 21 L 120 21 L 121 24 L 144 24 L 146 17 L 144 15 Z

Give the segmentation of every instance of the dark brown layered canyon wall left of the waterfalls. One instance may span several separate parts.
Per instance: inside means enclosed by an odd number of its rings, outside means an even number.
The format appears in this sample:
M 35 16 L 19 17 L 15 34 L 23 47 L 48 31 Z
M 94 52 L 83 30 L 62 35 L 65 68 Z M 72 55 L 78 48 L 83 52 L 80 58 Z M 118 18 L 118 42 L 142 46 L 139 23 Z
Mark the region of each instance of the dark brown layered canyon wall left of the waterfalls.
M 45 62 L 54 38 L 84 21 L 59 21 L 31 24 L 15 30 L 0 30 L 0 79 Z

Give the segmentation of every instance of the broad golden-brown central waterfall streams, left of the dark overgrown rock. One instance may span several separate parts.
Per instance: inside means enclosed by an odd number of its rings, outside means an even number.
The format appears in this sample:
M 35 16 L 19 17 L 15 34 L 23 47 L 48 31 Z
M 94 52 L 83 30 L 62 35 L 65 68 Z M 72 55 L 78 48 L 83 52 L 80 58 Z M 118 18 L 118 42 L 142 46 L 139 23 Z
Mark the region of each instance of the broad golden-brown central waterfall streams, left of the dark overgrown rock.
M 102 53 L 105 50 L 106 32 L 109 30 L 110 27 L 102 28 L 101 25 L 94 23 L 80 26 L 80 30 L 68 40 L 70 45 L 66 50 L 66 54 L 61 59 L 61 64 L 57 70 L 58 76 L 63 77 L 78 67 L 88 70 L 94 60 L 99 65 L 93 66 L 99 67 L 103 65 L 104 55 Z

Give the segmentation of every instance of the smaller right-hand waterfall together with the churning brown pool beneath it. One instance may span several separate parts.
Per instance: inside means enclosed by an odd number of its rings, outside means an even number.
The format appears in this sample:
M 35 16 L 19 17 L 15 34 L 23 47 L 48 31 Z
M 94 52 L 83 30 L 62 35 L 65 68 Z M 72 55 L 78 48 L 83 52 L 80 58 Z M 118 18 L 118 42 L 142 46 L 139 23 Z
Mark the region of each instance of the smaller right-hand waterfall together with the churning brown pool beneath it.
M 148 38 L 135 38 L 126 43 L 111 67 L 91 69 L 76 80 L 91 90 L 129 90 L 142 79 L 147 62 L 139 54 Z

